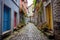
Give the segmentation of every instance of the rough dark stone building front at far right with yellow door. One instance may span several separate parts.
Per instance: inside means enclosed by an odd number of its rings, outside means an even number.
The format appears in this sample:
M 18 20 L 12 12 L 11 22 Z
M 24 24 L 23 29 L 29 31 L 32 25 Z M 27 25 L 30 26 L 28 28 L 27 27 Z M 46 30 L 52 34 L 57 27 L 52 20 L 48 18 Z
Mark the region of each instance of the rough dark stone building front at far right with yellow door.
M 50 1 L 50 2 L 48 2 Z M 55 40 L 60 40 L 60 0 L 47 0 L 47 6 L 45 8 L 45 12 L 44 13 L 49 13 L 47 15 L 47 20 L 49 18 L 49 22 L 50 22 L 50 27 L 49 29 L 52 29 L 54 35 L 55 35 Z M 45 3 L 44 3 L 45 4 Z

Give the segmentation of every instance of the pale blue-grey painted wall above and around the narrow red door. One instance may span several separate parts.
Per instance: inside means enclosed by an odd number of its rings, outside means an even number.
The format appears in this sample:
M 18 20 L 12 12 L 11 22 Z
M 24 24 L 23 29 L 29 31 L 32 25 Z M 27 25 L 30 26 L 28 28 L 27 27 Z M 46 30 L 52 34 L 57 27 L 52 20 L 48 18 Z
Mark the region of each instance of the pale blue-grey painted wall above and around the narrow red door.
M 12 0 L 4 0 L 4 4 L 11 9 L 11 31 L 13 31 L 14 27 L 14 12 L 17 13 L 17 24 L 19 24 L 19 3 L 20 0 L 17 0 L 17 3 L 14 3 Z

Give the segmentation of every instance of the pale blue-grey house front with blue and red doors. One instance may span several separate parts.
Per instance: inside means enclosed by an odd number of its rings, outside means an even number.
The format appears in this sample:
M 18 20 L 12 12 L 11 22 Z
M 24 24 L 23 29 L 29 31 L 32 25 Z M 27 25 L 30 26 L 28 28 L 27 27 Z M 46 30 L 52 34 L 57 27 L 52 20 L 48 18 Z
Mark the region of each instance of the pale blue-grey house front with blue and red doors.
M 1 7 L 1 34 L 13 32 L 19 24 L 19 6 L 20 0 L 2 0 Z M 3 9 L 2 9 L 3 8 Z

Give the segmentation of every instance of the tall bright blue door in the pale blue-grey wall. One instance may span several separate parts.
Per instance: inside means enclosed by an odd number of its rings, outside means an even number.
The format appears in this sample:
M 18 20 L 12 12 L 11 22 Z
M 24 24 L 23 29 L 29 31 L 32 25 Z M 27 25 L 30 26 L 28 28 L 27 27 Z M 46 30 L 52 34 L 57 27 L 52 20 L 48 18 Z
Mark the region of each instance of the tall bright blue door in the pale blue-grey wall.
M 4 5 L 4 14 L 3 14 L 3 28 L 2 31 L 10 30 L 10 8 Z

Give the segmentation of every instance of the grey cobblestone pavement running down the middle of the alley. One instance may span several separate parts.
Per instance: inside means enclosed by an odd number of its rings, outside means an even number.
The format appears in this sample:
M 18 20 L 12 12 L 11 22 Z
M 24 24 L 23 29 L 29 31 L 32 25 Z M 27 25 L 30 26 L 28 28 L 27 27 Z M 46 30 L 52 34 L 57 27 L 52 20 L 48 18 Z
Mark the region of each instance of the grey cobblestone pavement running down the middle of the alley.
M 48 38 L 43 33 L 41 33 L 34 24 L 28 23 L 9 40 L 48 40 Z

